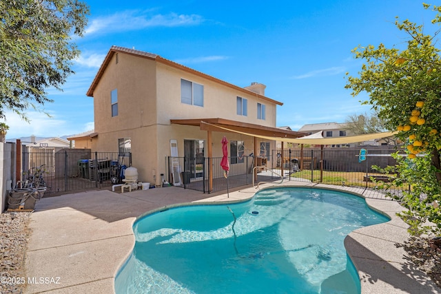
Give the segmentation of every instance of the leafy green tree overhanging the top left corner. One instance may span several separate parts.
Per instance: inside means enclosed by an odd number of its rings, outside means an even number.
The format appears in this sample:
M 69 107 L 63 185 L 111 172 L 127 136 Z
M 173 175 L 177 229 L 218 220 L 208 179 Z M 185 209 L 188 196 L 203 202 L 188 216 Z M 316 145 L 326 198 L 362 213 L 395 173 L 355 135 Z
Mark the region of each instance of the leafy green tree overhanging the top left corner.
M 73 73 L 88 6 L 79 0 L 0 1 L 0 118 L 10 109 L 28 120 L 25 109 L 50 103 L 48 87 L 61 90 Z

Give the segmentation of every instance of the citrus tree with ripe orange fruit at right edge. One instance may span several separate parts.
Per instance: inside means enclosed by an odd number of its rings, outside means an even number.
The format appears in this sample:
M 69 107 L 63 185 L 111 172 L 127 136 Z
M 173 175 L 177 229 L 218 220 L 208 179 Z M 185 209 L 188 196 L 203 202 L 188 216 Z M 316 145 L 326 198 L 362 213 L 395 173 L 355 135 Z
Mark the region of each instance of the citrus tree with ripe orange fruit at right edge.
M 423 5 L 438 12 L 432 23 L 440 22 L 441 8 Z M 407 48 L 388 49 L 383 44 L 355 48 L 356 59 L 365 63 L 359 76 L 349 76 L 345 87 L 353 90 L 353 96 L 367 92 L 369 101 L 364 104 L 372 105 L 387 129 L 397 129 L 396 136 L 406 145 L 408 157 L 398 160 L 400 173 L 395 181 L 412 187 L 400 197 L 409 209 L 402 218 L 412 233 L 440 235 L 441 58 L 434 40 L 440 31 L 424 34 L 422 25 L 409 20 L 396 19 L 396 26 L 409 35 Z M 425 227 L 427 220 L 435 225 Z

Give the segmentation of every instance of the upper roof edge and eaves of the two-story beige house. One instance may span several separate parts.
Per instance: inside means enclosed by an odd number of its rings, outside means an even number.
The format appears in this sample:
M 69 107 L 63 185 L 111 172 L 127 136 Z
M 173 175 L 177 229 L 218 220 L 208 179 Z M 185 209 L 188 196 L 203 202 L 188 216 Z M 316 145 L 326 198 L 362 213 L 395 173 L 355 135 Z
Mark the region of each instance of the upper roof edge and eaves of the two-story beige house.
M 121 52 L 121 53 L 125 53 L 125 54 L 130 54 L 133 56 L 138 56 L 141 58 L 145 58 L 145 59 L 152 59 L 155 60 L 157 62 L 166 64 L 166 65 L 170 65 L 172 67 L 178 68 L 179 70 L 183 70 L 184 72 L 190 72 L 192 74 L 196 74 L 198 76 L 202 76 L 203 78 L 207 78 L 210 81 L 214 81 L 216 83 L 225 85 L 227 87 L 233 88 L 234 90 L 238 90 L 240 92 L 245 92 L 247 94 L 253 94 L 255 96 L 257 96 L 258 98 L 261 98 L 265 101 L 269 101 L 271 103 L 275 103 L 277 105 L 283 105 L 282 102 L 280 101 L 276 101 L 273 100 L 271 98 L 268 98 L 266 96 L 262 96 L 260 94 L 256 94 L 255 92 L 249 91 L 247 89 L 244 89 L 243 87 L 238 87 L 236 85 L 227 83 L 225 81 L 222 81 L 218 78 L 214 78 L 213 76 L 209 76 L 208 74 L 204 74 L 203 72 L 198 72 L 197 70 L 193 70 L 190 67 L 186 67 L 185 65 L 181 65 L 179 63 L 176 63 L 174 61 L 170 61 L 168 59 L 164 59 L 161 56 L 157 55 L 157 54 L 152 54 L 152 53 L 148 53 L 148 52 L 143 52 L 143 51 L 139 51 L 139 50 L 134 50 L 134 49 L 129 49 L 129 48 L 124 48 L 124 47 L 119 47 L 119 46 L 112 46 L 112 48 L 110 48 L 109 52 L 107 52 L 107 55 L 105 56 L 105 59 L 103 61 L 103 63 L 101 64 L 101 67 L 98 70 L 98 73 L 96 74 L 94 81 L 92 81 L 92 85 L 90 85 L 88 92 L 86 93 L 87 96 L 93 97 L 94 95 L 94 90 L 96 85 L 98 85 L 99 80 L 101 79 L 101 76 L 103 76 L 105 69 L 107 68 L 107 65 L 109 65 L 110 61 L 112 60 L 112 56 L 113 54 L 117 53 L 117 52 Z

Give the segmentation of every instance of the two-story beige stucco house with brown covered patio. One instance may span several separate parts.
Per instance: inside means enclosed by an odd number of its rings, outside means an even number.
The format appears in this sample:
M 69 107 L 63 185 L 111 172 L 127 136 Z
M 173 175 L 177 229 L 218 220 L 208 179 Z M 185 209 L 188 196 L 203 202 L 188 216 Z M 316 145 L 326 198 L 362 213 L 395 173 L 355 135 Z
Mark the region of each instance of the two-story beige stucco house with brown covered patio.
M 112 46 L 87 95 L 94 98 L 92 151 L 130 151 L 139 180 L 156 185 L 167 175 L 168 156 L 220 158 L 224 135 L 230 167 L 242 164 L 243 156 L 269 157 L 276 147 L 274 140 L 216 126 L 265 136 L 303 135 L 276 128 L 276 107 L 283 103 L 265 96 L 265 85 L 238 87 L 139 50 Z

